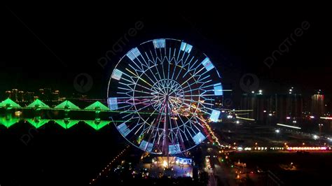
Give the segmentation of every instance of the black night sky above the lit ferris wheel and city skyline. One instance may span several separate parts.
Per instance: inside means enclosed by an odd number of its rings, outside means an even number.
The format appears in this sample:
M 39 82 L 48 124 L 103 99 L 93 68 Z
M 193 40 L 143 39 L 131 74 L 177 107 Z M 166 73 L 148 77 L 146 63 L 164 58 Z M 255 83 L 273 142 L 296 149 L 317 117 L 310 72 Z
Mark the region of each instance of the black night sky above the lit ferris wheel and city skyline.
M 40 87 L 78 93 L 74 79 L 88 73 L 93 85 L 86 94 L 104 98 L 111 70 L 127 50 L 153 38 L 177 38 L 205 52 L 219 68 L 225 87 L 238 93 L 240 78 L 253 73 L 268 93 L 293 86 L 302 94 L 318 89 L 331 94 L 331 10 L 279 6 L 1 7 L 0 93 Z M 138 21 L 144 27 L 127 36 Z M 282 52 L 268 68 L 264 60 L 303 22 L 310 27 L 293 36 L 289 52 Z M 121 38 L 123 51 L 103 69 L 98 59 Z

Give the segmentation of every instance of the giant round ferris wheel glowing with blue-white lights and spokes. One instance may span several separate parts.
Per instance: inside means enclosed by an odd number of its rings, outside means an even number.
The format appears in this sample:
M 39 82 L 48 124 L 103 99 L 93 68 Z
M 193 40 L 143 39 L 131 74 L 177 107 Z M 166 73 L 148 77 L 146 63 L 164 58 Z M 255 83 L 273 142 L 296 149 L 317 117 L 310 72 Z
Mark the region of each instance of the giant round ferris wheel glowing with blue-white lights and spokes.
M 205 140 L 205 124 L 216 122 L 221 76 L 204 53 L 184 41 L 160 38 L 124 55 L 107 90 L 116 129 L 132 145 L 174 155 Z

